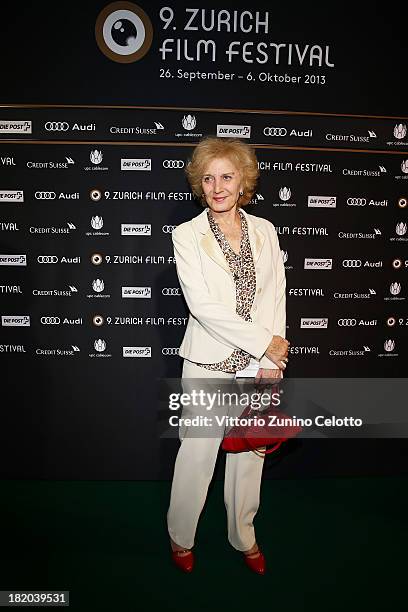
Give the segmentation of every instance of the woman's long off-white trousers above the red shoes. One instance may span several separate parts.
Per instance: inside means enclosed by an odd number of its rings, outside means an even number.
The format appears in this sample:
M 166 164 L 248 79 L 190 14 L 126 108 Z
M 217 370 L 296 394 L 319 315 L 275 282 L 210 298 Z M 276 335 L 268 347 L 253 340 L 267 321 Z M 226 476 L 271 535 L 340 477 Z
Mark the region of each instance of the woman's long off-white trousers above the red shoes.
M 184 360 L 182 378 L 234 378 L 234 374 L 206 370 Z M 194 546 L 197 523 L 207 497 L 222 434 L 212 438 L 184 437 L 177 453 L 167 526 L 172 540 L 184 548 Z M 252 451 L 227 453 L 224 502 L 228 540 L 239 551 L 255 544 L 253 519 L 258 511 L 263 457 Z

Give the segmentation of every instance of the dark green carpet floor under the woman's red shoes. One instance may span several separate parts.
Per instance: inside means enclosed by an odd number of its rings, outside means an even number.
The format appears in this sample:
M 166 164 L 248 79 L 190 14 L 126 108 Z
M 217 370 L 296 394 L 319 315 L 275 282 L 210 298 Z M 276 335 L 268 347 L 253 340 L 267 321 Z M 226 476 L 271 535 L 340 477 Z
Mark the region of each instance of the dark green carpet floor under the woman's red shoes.
M 0 589 L 70 591 L 68 609 L 84 612 L 407 609 L 407 484 L 264 480 L 258 576 L 227 541 L 221 481 L 190 575 L 170 559 L 169 482 L 2 481 Z

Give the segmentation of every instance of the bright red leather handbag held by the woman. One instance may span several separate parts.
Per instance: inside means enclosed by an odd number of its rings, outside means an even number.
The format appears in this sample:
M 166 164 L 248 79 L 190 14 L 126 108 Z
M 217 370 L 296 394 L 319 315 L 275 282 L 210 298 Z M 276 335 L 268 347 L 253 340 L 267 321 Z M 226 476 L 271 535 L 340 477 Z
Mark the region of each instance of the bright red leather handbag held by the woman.
M 277 391 L 279 387 L 274 385 L 272 388 L 272 394 Z M 276 416 L 276 418 L 290 419 L 281 410 L 277 410 L 271 405 L 263 411 L 255 410 L 251 405 L 247 406 L 244 412 L 240 415 L 239 419 L 253 419 L 258 417 L 260 423 L 251 424 L 240 424 L 234 425 L 230 431 L 225 434 L 222 441 L 221 448 L 229 453 L 242 453 L 243 451 L 252 450 L 256 455 L 264 457 L 274 451 L 278 450 L 283 442 L 286 442 L 289 438 L 294 438 L 299 432 L 302 431 L 302 427 L 298 425 L 282 425 L 279 427 L 272 427 L 268 425 L 270 418 Z M 263 419 L 263 421 L 261 421 Z M 278 436 L 271 436 L 272 431 Z M 273 445 L 271 447 L 271 445 Z M 271 447 L 261 450 L 262 447 Z

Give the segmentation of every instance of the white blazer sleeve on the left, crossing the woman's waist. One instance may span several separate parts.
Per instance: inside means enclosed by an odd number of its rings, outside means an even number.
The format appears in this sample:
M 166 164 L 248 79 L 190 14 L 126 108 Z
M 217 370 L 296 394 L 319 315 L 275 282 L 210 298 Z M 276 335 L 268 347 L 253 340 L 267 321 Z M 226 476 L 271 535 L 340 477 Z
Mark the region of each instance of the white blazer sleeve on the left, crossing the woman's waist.
M 176 271 L 191 315 L 218 342 L 242 349 L 260 359 L 273 334 L 258 323 L 245 321 L 215 300 L 206 288 L 198 245 L 191 227 L 172 232 Z

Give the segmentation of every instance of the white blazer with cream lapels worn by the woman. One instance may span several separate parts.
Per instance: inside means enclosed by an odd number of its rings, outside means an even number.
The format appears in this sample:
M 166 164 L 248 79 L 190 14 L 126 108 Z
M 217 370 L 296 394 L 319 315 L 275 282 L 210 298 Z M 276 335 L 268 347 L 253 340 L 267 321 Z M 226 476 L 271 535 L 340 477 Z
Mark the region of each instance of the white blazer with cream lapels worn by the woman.
M 235 283 L 211 230 L 207 210 L 172 231 L 177 276 L 190 310 L 179 355 L 200 363 L 223 361 L 234 349 L 277 366 L 264 355 L 273 335 L 286 333 L 286 278 L 275 227 L 241 209 L 256 271 L 251 321 L 236 314 Z

